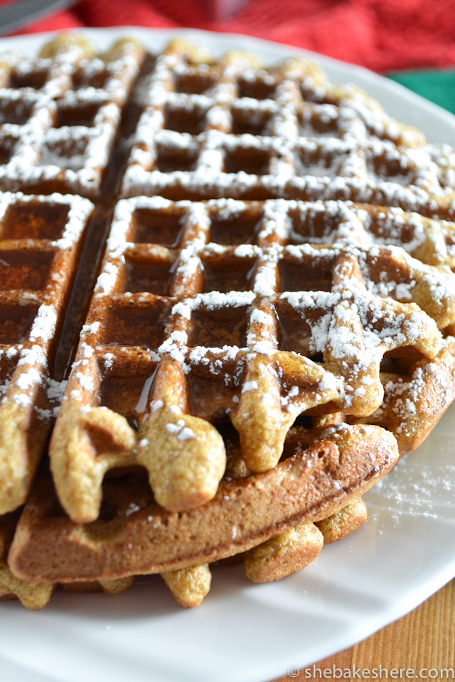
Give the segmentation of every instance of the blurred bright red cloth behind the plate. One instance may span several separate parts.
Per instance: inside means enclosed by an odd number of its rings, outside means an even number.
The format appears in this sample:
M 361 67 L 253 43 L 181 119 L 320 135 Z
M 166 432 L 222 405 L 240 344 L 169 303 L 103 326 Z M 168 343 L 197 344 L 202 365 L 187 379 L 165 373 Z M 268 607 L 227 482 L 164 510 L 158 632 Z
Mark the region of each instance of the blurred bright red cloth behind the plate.
M 210 0 L 81 0 L 21 33 L 191 26 L 277 40 L 377 71 L 455 65 L 455 0 L 252 0 L 225 21 L 211 19 L 209 7 Z

